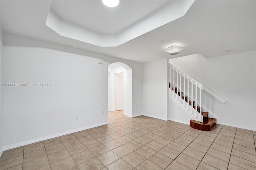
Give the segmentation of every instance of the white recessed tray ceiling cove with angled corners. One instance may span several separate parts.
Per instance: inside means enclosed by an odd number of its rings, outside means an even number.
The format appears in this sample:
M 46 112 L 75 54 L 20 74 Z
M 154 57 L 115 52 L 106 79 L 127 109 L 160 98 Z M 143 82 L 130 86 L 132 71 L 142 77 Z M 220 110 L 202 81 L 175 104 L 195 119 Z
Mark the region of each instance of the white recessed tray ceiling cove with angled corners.
M 75 2 L 52 1 L 46 25 L 60 36 L 116 47 L 184 16 L 194 0 L 120 1 L 111 9 L 101 1 Z

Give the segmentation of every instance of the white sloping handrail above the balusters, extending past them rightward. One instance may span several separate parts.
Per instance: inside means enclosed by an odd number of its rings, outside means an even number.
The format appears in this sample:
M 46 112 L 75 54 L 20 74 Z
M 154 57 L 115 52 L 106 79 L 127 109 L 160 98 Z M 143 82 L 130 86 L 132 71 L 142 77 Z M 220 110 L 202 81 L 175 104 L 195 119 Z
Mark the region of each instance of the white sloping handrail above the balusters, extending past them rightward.
M 218 101 L 220 101 L 221 103 L 225 104 L 227 103 L 227 100 L 224 99 L 223 97 L 221 97 L 220 95 L 218 95 L 216 92 L 212 91 L 210 88 L 208 88 L 207 86 L 203 85 L 202 83 L 200 83 L 199 81 L 197 81 L 196 79 L 194 79 L 191 75 L 185 73 L 184 71 L 182 71 L 180 68 L 174 66 L 173 64 L 169 63 L 169 67 L 170 65 L 172 67 L 174 67 L 175 69 L 177 69 L 178 71 L 180 71 L 182 74 L 186 75 L 187 77 L 189 77 L 190 79 L 192 79 L 193 81 L 195 81 L 196 83 L 202 85 L 202 90 L 206 91 L 207 93 L 209 93 L 210 95 L 212 95 L 214 98 L 216 98 Z

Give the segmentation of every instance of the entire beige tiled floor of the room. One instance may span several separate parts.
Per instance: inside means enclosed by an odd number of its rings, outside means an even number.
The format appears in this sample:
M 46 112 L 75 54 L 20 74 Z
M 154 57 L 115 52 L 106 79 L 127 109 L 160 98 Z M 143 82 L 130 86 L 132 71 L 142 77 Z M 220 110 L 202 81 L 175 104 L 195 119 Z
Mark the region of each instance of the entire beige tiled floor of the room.
M 256 132 L 109 112 L 108 125 L 4 151 L 1 170 L 255 170 Z

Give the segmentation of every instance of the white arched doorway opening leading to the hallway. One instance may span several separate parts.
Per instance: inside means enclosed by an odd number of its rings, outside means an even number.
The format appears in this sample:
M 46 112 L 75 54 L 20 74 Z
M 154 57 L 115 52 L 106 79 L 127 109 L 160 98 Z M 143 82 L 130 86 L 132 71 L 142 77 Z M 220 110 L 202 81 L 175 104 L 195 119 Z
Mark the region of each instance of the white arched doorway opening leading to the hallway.
M 123 77 L 123 84 L 119 83 L 123 85 L 123 114 L 132 117 L 132 69 L 125 63 L 117 62 L 108 65 L 108 111 L 120 109 L 120 100 L 116 103 L 116 92 L 118 92 L 116 77 L 119 79 Z M 116 104 L 119 106 L 116 107 Z

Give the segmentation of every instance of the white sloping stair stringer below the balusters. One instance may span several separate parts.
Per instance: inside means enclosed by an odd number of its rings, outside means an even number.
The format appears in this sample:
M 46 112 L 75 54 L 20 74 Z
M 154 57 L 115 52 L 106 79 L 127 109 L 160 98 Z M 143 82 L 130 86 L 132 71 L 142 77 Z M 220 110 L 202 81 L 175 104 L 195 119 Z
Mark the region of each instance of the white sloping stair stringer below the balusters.
M 178 97 L 178 100 L 177 100 L 177 97 Z M 200 121 L 200 122 L 203 120 L 203 116 L 200 115 L 200 113 L 197 112 L 196 109 L 192 108 L 192 106 L 190 106 L 185 100 L 180 99 L 180 96 L 178 96 L 177 93 L 174 93 L 174 91 L 172 91 L 171 89 L 169 89 L 169 98 L 172 99 L 177 105 L 179 105 L 185 111 L 185 113 L 187 113 L 191 117 L 191 119 L 195 121 Z M 184 107 L 184 102 L 185 102 L 185 105 L 189 107 L 189 110 L 187 107 Z M 193 113 L 191 109 L 193 110 Z M 197 117 L 196 117 L 196 114 L 197 114 Z

